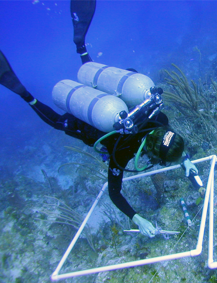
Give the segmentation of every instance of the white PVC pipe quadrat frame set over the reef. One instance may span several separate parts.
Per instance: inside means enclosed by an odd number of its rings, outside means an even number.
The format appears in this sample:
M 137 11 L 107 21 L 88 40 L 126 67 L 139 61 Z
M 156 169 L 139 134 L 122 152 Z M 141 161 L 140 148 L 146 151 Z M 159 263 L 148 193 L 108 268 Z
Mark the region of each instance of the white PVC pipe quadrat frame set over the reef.
M 202 216 L 201 216 L 201 222 L 200 222 L 200 229 L 199 229 L 199 234 L 198 234 L 198 241 L 196 248 L 194 250 L 189 250 L 187 252 L 179 252 L 176 254 L 169 254 L 165 256 L 158 256 L 155 258 L 146 258 L 143 260 L 136 260 L 136 261 L 130 261 L 130 262 L 125 262 L 125 263 L 118 263 L 114 265 L 107 265 L 107 266 L 102 266 L 102 267 L 96 267 L 92 269 L 85 269 L 81 271 L 74 271 L 70 273 L 65 273 L 65 274 L 59 274 L 60 269 L 62 268 L 63 264 L 65 263 L 69 253 L 71 252 L 72 248 L 74 247 L 77 239 L 79 238 L 79 235 L 83 231 L 88 219 L 90 218 L 90 215 L 92 214 L 94 208 L 96 207 L 99 199 L 101 198 L 103 192 L 105 191 L 105 188 L 107 187 L 108 183 L 106 182 L 103 187 L 101 188 L 96 200 L 94 201 L 92 207 L 90 208 L 87 216 L 85 217 L 84 221 L 82 222 L 79 230 L 77 231 L 76 235 L 74 236 L 72 242 L 68 246 L 65 254 L 63 255 L 62 259 L 60 260 L 59 264 L 57 265 L 56 270 L 52 273 L 51 275 L 51 280 L 59 280 L 59 279 L 65 279 L 65 278 L 71 278 L 75 276 L 81 276 L 81 275 L 88 275 L 88 274 L 93 274 L 93 273 L 99 273 L 102 271 L 110 271 L 110 270 L 116 270 L 116 269 L 122 269 L 122 268 L 128 268 L 128 267 L 134 267 L 134 266 L 139 266 L 139 265 L 145 265 L 149 263 L 156 263 L 160 261 L 165 261 L 165 260 L 175 260 L 178 258 L 185 258 L 185 257 L 190 257 L 190 256 L 198 256 L 202 252 L 202 242 L 203 242 L 203 235 L 204 235 L 204 229 L 205 229 L 205 221 L 207 217 L 207 209 L 208 209 L 208 203 L 209 203 L 209 247 L 208 247 L 208 267 L 211 269 L 217 268 L 217 262 L 213 262 L 213 214 L 214 214 L 214 209 L 213 209 L 213 202 L 214 202 L 214 169 L 215 169 L 215 163 L 216 163 L 216 155 L 210 155 L 204 158 L 200 158 L 197 160 L 191 161 L 192 163 L 198 163 L 198 162 L 203 162 L 207 160 L 211 160 L 211 167 L 209 171 L 209 178 L 207 181 L 207 187 L 206 187 L 206 193 L 205 193 L 205 198 L 204 198 L 204 204 L 203 204 L 203 211 L 202 211 Z M 163 171 L 168 171 L 172 169 L 179 168 L 180 165 L 175 165 L 175 166 L 170 166 L 166 168 L 162 168 L 159 170 L 154 170 L 142 174 L 138 174 L 136 176 L 131 176 L 127 178 L 123 178 L 123 181 L 129 181 L 132 179 L 136 178 L 141 178 L 145 177 L 148 175 L 153 175 L 159 172 Z

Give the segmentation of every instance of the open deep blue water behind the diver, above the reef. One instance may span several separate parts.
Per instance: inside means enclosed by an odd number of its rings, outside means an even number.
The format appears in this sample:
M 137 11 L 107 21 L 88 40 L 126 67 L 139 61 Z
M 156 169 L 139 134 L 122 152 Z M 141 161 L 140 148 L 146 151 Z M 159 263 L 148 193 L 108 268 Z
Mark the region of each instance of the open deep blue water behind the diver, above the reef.
M 205 0 L 98 0 L 87 49 L 96 62 L 135 68 L 156 81 L 158 70 L 172 62 L 185 69 L 191 59 L 198 61 L 194 46 L 204 57 L 217 52 L 216 6 L 216 1 Z M 52 102 L 52 88 L 60 80 L 76 80 L 81 66 L 70 1 L 1 1 L 0 26 L 0 49 L 21 82 L 63 113 Z M 97 57 L 99 52 L 103 54 Z M 11 153 L 28 145 L 38 130 L 50 129 L 18 95 L 1 85 L 0 93 L 2 148 Z

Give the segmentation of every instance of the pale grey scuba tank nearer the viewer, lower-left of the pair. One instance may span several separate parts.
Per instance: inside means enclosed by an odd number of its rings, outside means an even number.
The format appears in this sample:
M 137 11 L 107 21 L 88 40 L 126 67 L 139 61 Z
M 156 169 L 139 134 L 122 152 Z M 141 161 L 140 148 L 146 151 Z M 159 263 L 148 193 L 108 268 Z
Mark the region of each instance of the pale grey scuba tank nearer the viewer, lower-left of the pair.
M 71 80 L 58 82 L 52 98 L 56 106 L 103 132 L 114 130 L 121 111 L 129 112 L 120 98 Z

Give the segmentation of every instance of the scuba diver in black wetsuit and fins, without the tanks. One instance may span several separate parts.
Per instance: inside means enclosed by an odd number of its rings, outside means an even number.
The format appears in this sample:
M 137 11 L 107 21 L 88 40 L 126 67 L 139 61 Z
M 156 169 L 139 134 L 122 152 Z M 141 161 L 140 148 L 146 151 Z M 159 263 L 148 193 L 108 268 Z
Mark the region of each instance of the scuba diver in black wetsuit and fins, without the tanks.
M 74 27 L 74 43 L 77 47 L 77 53 L 80 54 L 82 64 L 92 62 L 85 46 L 85 36 L 92 21 L 95 8 L 96 0 L 71 0 L 70 10 Z M 127 70 L 130 74 L 137 73 L 134 69 Z M 78 119 L 72 113 L 66 112 L 64 115 L 60 115 L 34 98 L 19 81 L 1 51 L 0 83 L 28 102 L 30 107 L 45 123 L 83 141 L 90 147 L 93 147 L 96 141 L 107 134 L 106 131 L 97 129 Z M 151 87 L 149 92 L 152 96 L 159 97 L 163 90 Z M 159 108 L 157 112 L 154 112 L 156 109 L 154 108 L 153 111 L 153 108 L 149 106 L 150 103 L 147 104 L 147 107 L 140 107 L 141 109 L 137 107 L 142 111 L 138 111 L 138 114 L 135 115 L 136 120 L 134 124 L 136 124 L 136 127 L 134 127 L 133 131 L 128 131 L 130 134 L 125 134 L 127 132 L 126 129 L 121 132 L 123 123 L 121 124 L 120 121 L 125 121 L 129 115 L 127 115 L 126 111 L 120 113 L 121 120 L 119 119 L 116 123 L 116 133 L 103 138 L 100 143 L 109 154 L 108 192 L 110 199 L 119 210 L 139 226 L 142 234 L 154 237 L 155 228 L 152 223 L 138 215 L 121 194 L 123 171 L 135 172 L 134 170 L 126 169 L 129 160 L 134 158 L 134 154 L 138 152 L 142 145 L 140 151 L 142 150 L 143 154 L 150 158 L 144 170 L 151 168 L 154 164 L 160 163 L 166 166 L 168 162 L 179 161 L 185 167 L 185 175 L 187 177 L 191 169 L 196 171 L 196 173 L 198 173 L 198 170 L 189 160 L 189 156 L 185 155 L 183 139 L 169 127 L 167 116 Z M 135 111 L 133 110 L 134 113 Z M 128 119 L 127 123 L 130 121 Z

